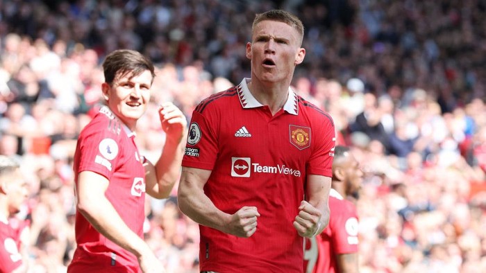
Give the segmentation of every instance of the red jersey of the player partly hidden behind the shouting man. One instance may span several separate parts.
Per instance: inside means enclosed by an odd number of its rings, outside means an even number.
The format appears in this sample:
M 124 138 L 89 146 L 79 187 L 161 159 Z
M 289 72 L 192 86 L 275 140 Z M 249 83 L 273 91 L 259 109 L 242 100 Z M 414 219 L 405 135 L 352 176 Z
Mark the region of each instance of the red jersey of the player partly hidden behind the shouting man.
M 358 252 L 358 214 L 355 205 L 331 189 L 329 209 L 328 227 L 315 238 L 305 239 L 306 273 L 339 272 L 335 255 Z

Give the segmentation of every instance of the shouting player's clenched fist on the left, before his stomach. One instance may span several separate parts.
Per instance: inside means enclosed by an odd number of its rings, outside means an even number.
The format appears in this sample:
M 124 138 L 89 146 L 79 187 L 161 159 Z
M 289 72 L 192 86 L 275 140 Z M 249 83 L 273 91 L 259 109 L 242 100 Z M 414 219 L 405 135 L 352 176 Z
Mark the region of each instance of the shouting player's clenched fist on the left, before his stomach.
M 228 234 L 238 237 L 249 238 L 256 231 L 257 217 L 260 216 L 256 206 L 243 206 L 235 214 L 231 215 L 231 222 L 228 224 Z

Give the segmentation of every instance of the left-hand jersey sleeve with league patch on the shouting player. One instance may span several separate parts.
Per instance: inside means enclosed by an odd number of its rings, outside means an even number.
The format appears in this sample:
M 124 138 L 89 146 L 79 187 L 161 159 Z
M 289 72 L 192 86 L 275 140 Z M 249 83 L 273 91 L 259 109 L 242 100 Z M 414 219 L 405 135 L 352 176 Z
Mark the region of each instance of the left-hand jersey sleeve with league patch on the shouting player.
M 206 112 L 205 112 L 206 114 Z M 218 154 L 217 117 L 202 115 L 194 111 L 187 134 L 187 143 L 182 165 L 185 167 L 212 170 Z

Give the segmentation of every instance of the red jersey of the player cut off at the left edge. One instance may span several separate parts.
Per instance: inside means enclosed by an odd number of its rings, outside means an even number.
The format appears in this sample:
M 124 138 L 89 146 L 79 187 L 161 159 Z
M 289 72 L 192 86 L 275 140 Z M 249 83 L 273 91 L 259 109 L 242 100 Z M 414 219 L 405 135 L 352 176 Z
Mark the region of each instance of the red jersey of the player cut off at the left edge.
M 22 265 L 17 232 L 0 219 L 0 273 L 12 272 Z

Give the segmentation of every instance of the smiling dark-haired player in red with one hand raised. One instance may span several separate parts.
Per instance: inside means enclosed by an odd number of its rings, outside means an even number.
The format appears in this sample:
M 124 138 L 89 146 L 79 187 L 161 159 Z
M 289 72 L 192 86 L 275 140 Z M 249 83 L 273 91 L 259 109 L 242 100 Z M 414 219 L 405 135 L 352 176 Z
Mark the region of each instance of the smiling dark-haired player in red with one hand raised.
M 68 272 L 163 272 L 142 239 L 145 193 L 169 196 L 178 179 L 187 121 L 172 103 L 159 109 L 165 146 L 155 166 L 135 145 L 155 76 L 137 51 L 117 50 L 103 62 L 106 105 L 81 132 L 74 155 L 76 251 Z

